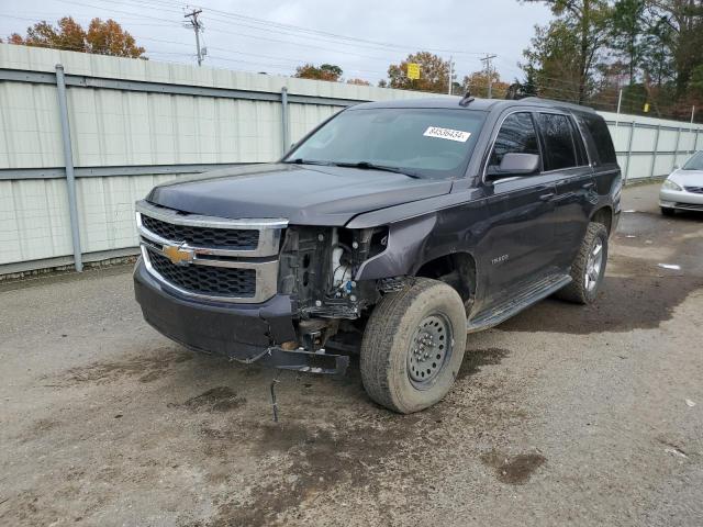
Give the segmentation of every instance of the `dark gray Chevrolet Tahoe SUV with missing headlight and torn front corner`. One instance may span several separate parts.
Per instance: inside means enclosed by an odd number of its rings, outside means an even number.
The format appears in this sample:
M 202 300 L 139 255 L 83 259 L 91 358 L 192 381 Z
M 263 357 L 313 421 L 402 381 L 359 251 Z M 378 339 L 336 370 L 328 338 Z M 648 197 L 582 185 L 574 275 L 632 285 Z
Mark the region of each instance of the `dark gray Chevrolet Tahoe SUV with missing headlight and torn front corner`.
M 146 321 L 194 350 L 342 374 L 400 413 L 450 390 L 467 334 L 548 295 L 595 300 L 621 170 L 590 109 L 539 99 L 359 104 L 279 162 L 137 203 Z

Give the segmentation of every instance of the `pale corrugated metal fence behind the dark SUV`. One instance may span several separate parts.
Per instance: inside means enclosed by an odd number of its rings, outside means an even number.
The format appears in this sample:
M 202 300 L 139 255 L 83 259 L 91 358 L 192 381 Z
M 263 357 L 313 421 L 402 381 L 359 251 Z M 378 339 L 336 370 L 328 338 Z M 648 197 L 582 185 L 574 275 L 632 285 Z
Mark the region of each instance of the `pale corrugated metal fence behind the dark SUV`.
M 275 160 L 349 104 L 428 96 L 0 44 L 0 274 L 134 254 L 155 184 Z M 703 147 L 701 126 L 605 117 L 628 180 Z

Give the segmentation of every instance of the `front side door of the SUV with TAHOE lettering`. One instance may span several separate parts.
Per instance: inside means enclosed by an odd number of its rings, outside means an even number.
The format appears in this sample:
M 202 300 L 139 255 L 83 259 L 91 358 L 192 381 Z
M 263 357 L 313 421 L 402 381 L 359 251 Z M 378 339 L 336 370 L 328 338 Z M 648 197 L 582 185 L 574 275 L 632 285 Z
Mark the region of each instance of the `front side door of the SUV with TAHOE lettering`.
M 484 289 L 490 295 L 481 306 L 490 307 L 513 295 L 529 280 L 548 273 L 549 248 L 554 242 L 553 175 L 491 175 L 507 153 L 542 155 L 531 111 L 507 114 L 494 138 L 484 170 L 487 225 L 478 251 L 484 270 Z

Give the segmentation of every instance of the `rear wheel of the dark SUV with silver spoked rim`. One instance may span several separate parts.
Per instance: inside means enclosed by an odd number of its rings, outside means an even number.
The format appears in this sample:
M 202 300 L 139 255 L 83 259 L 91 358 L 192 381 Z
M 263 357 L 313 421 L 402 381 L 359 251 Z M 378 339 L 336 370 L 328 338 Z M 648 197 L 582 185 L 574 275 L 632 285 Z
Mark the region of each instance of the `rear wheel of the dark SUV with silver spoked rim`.
M 589 257 L 593 253 L 599 240 L 603 254 L 601 257 L 601 265 L 599 266 L 598 278 L 595 278 L 595 280 L 590 280 L 587 285 Z M 605 225 L 601 223 L 589 223 L 585 236 L 583 236 L 583 242 L 581 242 L 581 247 L 579 248 L 579 254 L 576 256 L 576 259 L 571 265 L 571 283 L 558 291 L 556 296 L 576 304 L 592 304 L 598 296 L 601 283 L 603 283 L 606 264 L 607 229 L 605 228 Z M 593 285 L 591 285 L 591 283 Z

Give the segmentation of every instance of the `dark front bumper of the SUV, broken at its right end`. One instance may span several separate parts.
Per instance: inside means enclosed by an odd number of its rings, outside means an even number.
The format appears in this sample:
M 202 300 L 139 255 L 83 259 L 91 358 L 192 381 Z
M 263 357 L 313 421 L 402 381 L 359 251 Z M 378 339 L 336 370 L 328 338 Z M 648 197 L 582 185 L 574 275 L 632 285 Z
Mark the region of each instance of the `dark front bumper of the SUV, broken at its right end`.
M 298 341 L 289 296 L 276 295 L 260 304 L 187 299 L 149 274 L 142 259 L 134 269 L 134 291 L 150 326 L 196 351 L 312 373 L 343 374 L 348 366 L 345 356 L 281 347 Z

